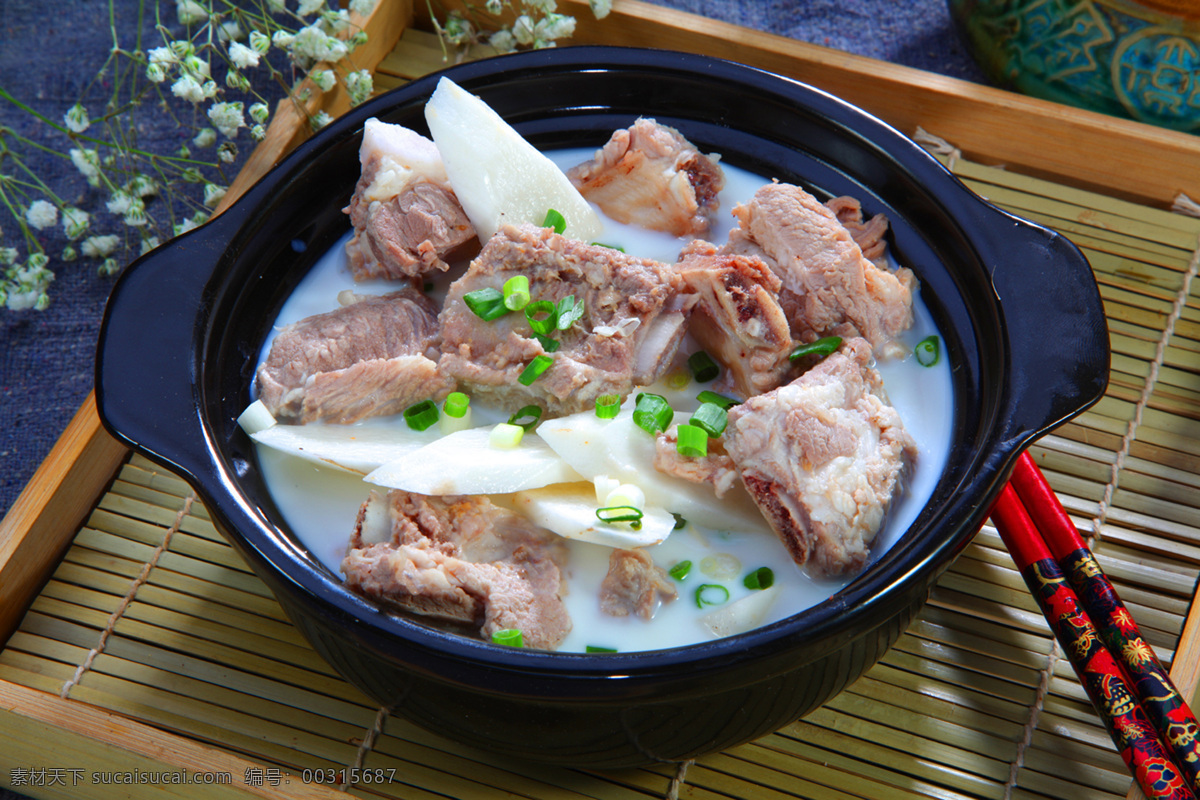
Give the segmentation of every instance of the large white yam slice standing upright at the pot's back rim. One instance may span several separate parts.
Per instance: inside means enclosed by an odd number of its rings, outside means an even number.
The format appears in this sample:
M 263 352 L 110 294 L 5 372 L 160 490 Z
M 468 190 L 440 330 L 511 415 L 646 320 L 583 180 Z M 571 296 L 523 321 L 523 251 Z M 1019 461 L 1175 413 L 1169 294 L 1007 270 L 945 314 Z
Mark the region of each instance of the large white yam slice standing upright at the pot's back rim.
M 566 221 L 564 235 L 582 241 L 600 235 L 600 216 L 563 170 L 475 95 L 442 78 L 425 120 L 480 241 L 504 224 L 540 225 L 550 209 Z

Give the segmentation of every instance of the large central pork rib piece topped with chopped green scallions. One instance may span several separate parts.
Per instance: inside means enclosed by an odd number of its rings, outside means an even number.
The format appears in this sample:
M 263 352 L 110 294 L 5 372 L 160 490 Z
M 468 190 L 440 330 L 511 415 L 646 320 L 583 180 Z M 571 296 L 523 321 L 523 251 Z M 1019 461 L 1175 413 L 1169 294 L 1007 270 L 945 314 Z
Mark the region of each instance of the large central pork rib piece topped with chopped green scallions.
M 560 342 L 552 366 L 528 386 L 518 377 L 546 349 L 533 338 L 523 312 L 484 320 L 463 295 L 500 290 L 510 277 L 529 278 L 533 301 L 566 296 L 584 306 Z M 599 245 L 559 236 L 550 228 L 504 225 L 450 284 L 439 315 L 439 371 L 473 397 L 512 410 L 534 403 L 562 415 L 592 408 L 601 395 L 624 397 L 658 378 L 671 363 L 686 325 L 691 299 L 678 294 L 671 266 Z

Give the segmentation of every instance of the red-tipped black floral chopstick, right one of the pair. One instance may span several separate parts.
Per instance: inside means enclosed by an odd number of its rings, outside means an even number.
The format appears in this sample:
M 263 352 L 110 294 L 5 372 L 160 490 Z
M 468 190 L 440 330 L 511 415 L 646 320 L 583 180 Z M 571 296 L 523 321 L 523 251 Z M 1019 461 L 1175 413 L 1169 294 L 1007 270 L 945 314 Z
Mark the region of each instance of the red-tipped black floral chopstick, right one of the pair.
M 1200 793 L 1200 740 L 1187 700 L 1154 657 L 1154 650 L 1141 638 L 1138 624 L 1027 452 L 1018 459 L 1009 483 L 1098 626 L 1104 644 L 1124 667 L 1146 716 L 1158 728 L 1188 784 Z

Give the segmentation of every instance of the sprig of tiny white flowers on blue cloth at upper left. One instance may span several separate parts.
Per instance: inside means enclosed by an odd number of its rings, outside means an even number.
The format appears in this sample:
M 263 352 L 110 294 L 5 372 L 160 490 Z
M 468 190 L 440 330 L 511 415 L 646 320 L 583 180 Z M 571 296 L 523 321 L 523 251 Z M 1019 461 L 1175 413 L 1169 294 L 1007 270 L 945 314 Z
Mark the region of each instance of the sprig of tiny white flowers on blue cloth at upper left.
M 158 0 L 161 43 L 114 46 L 89 86 L 110 94 L 85 91 L 60 120 L 13 97 L 0 76 L 0 102 L 61 134 L 55 149 L 47 137 L 35 142 L 0 127 L 0 210 L 13 219 L 0 224 L 0 308 L 46 308 L 52 258 L 95 260 L 101 275 L 114 275 L 132 257 L 202 224 L 227 192 L 239 139 L 262 140 L 281 97 L 305 113 L 299 86 L 316 65 L 304 100 L 313 86 L 331 91 L 338 84 L 352 104 L 370 98 L 370 73 L 343 60 L 366 41 L 350 13 L 365 17 L 374 2 L 335 10 L 328 0 Z M 109 0 L 110 14 L 118 7 Z M 188 144 L 167 154 L 139 148 L 139 113 L 178 120 L 191 128 L 181 137 Z M 314 128 L 329 121 L 324 112 L 310 115 Z M 70 161 L 96 190 L 90 203 L 66 203 L 59 196 L 70 190 L 55 192 L 38 179 L 24 155 L 32 150 Z M 18 241 L 4 239 L 11 231 Z

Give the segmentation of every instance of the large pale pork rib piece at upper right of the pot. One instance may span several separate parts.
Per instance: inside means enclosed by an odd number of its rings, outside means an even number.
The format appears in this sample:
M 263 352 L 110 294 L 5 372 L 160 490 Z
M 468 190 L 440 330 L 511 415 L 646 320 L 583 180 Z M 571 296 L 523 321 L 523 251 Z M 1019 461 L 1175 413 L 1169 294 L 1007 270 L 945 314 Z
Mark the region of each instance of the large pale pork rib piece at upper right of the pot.
M 901 353 L 893 339 L 912 325 L 911 270 L 872 264 L 833 210 L 791 184 L 763 186 L 733 215 L 739 227 L 724 249 L 758 255 L 779 275 L 793 338 L 862 336 L 881 357 Z

